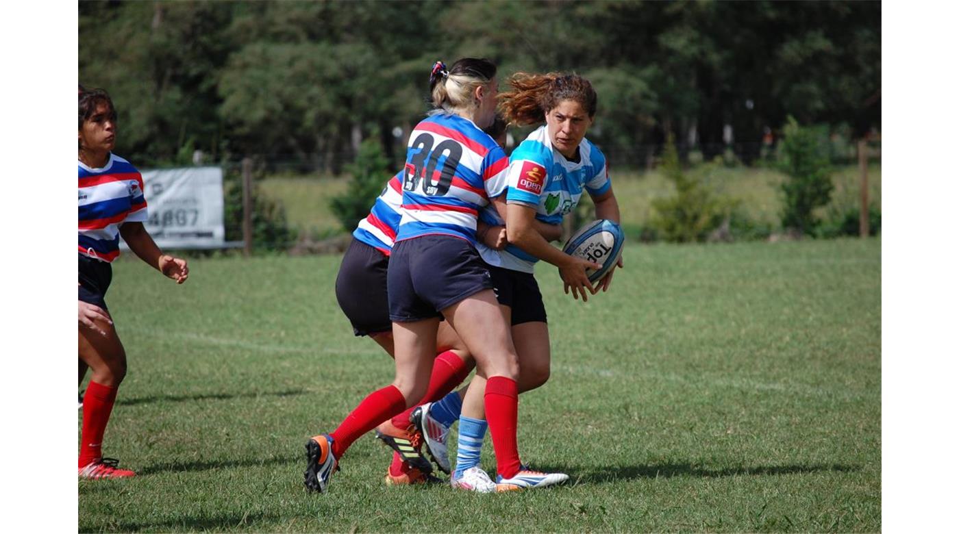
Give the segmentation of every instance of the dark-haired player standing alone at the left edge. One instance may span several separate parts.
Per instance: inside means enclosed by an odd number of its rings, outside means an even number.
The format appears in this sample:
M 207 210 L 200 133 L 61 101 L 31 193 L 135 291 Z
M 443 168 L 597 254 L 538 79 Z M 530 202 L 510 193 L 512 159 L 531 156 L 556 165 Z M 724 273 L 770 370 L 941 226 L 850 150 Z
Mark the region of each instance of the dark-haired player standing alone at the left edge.
M 89 366 L 92 376 L 83 395 L 77 472 L 82 478 L 134 476 L 101 453 L 117 387 L 127 374 L 127 354 L 104 300 L 112 278 L 110 262 L 120 254 L 123 236 L 140 259 L 177 284 L 186 281 L 189 269 L 186 260 L 163 254 L 143 227 L 147 220 L 143 178 L 129 161 L 112 152 L 116 110 L 109 95 L 101 89 L 81 88 L 78 111 L 79 300 L 86 303 L 80 311 L 78 354 L 81 377 L 84 366 Z M 105 316 L 91 313 L 90 306 L 101 309 Z

